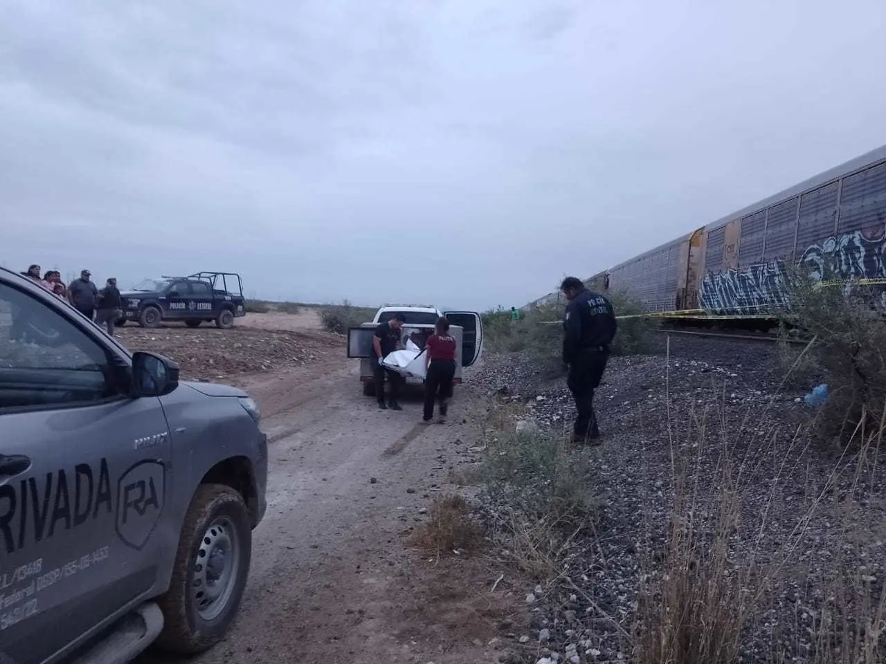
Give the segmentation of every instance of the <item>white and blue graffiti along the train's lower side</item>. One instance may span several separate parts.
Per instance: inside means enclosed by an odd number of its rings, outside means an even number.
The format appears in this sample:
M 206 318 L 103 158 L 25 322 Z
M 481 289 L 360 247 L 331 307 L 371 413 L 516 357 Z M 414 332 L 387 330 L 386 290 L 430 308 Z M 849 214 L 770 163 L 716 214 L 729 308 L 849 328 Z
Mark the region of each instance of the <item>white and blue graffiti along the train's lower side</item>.
M 886 279 L 884 251 L 886 236 L 866 237 L 861 231 L 853 231 L 812 244 L 797 262 L 816 280 L 826 274 L 847 282 Z M 758 313 L 773 305 L 787 305 L 787 266 L 776 259 L 741 270 L 705 274 L 698 297 L 703 309 L 729 314 Z

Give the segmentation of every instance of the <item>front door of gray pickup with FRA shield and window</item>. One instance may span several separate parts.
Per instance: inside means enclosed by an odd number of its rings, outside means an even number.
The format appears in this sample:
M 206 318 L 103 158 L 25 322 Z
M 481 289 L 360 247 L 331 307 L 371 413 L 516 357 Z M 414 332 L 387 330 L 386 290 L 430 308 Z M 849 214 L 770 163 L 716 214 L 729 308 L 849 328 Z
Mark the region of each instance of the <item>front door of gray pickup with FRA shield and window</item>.
M 154 591 L 170 436 L 97 329 L 0 282 L 0 661 L 43 661 Z M 19 344 L 16 344 L 19 345 Z M 8 348 L 8 347 L 7 347 Z

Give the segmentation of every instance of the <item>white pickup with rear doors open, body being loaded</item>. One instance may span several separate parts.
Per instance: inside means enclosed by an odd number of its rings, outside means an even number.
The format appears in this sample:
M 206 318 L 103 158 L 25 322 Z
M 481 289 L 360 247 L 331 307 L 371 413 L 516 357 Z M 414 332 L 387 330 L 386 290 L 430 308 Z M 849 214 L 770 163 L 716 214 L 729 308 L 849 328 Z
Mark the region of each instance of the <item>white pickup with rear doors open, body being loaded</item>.
M 406 322 L 400 328 L 400 344 L 406 347 L 412 341 L 424 351 L 424 344 L 434 332 L 434 324 L 440 316 L 449 320 L 449 334 L 455 336 L 458 353 L 455 357 L 455 383 L 462 382 L 462 367 L 470 367 L 478 359 L 483 350 L 483 323 L 477 312 L 441 312 L 430 305 L 385 305 L 378 309 L 375 317 L 356 328 L 347 330 L 347 357 L 358 358 L 360 362 L 360 382 L 363 394 L 367 397 L 376 396 L 376 385 L 373 379 L 372 335 L 379 323 L 391 320 L 397 313 L 406 316 Z M 422 379 L 408 376 L 407 384 L 421 384 Z

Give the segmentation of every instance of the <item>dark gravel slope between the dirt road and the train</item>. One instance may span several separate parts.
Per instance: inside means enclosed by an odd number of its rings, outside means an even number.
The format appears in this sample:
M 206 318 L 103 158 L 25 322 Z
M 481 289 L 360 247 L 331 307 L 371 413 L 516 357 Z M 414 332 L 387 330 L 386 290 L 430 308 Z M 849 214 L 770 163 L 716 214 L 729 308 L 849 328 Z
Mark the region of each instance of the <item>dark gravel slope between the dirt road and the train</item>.
M 602 447 L 576 452 L 594 460 L 589 481 L 601 499 L 595 535 L 572 548 L 560 579 L 527 588 L 532 632 L 524 647 L 542 660 L 631 659 L 626 632 L 638 623 L 641 577 L 654 584 L 664 571 L 672 519 L 691 510 L 696 534 L 710 543 L 726 504 L 735 512 L 729 574 L 759 589 L 747 604 L 740 659 L 814 661 L 828 611 L 836 622 L 846 619 L 836 629 L 842 633 L 871 613 L 859 606 L 882 593 L 881 475 L 869 461 L 812 442 L 811 414 L 797 403 L 802 392 L 780 390 L 772 346 L 670 339 L 668 355 L 610 359 L 595 398 Z M 533 370 L 525 359 L 486 359 L 472 382 L 525 402 L 542 429 L 571 425 L 563 377 Z M 678 514 L 672 459 L 689 487 L 680 495 L 695 502 Z M 738 488 L 732 501 L 722 498 L 725 468 Z M 696 552 L 697 564 L 709 550 Z M 847 643 L 838 639 L 831 649 Z

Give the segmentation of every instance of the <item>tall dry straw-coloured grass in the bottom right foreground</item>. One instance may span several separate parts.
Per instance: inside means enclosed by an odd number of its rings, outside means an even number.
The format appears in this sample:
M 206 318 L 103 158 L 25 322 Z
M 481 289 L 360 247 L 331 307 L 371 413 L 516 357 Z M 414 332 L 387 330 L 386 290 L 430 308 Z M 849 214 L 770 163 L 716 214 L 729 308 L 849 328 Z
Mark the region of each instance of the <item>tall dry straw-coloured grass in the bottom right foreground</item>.
M 804 356 L 794 359 L 800 366 Z M 785 380 L 789 380 L 786 376 Z M 882 413 L 886 406 L 878 409 Z M 759 420 L 766 413 L 748 413 L 748 418 Z M 703 456 L 710 444 L 727 443 L 724 431 L 711 431 L 704 414 L 690 418 L 690 448 L 696 450 L 696 460 Z M 716 420 L 716 418 L 714 418 Z M 732 459 L 729 446 L 722 445 L 713 480 L 702 486 L 700 464 L 680 459 L 674 452 L 672 438 L 672 518 L 666 550 L 662 558 L 644 560 L 641 599 L 630 647 L 633 657 L 641 664 L 733 664 L 740 660 L 742 639 L 749 629 L 758 628 L 767 610 L 777 604 L 770 592 L 780 580 L 797 582 L 802 579 L 803 566 L 798 563 L 798 548 L 805 529 L 816 512 L 822 509 L 822 497 L 835 483 L 843 480 L 850 486 L 850 494 L 859 493 L 864 477 L 876 475 L 876 459 L 882 446 L 886 415 L 880 426 L 866 432 L 862 417 L 853 431 L 850 442 L 859 438 L 859 452 L 848 453 L 850 446 L 835 459 L 828 480 L 823 487 L 812 487 L 812 499 L 804 513 L 795 514 L 796 525 L 777 552 L 763 548 L 763 534 L 767 518 L 773 509 L 775 487 L 791 481 L 787 468 L 776 467 L 772 489 L 764 513 L 758 519 L 742 523 L 742 494 L 759 491 L 746 476 L 759 461 L 748 452 L 742 459 Z M 746 419 L 747 421 L 747 419 Z M 812 422 L 812 426 L 815 422 Z M 672 422 L 668 428 L 673 431 Z M 802 434 L 806 434 L 803 436 Z M 795 442 L 809 432 L 798 432 Z M 762 456 L 762 450 L 753 451 Z M 819 459 L 820 460 L 820 459 Z M 690 478 L 694 478 L 690 480 Z M 742 479 L 744 478 L 744 479 Z M 848 480 L 848 483 L 846 482 Z M 855 497 L 857 498 L 857 496 Z M 883 591 L 882 567 L 871 566 L 861 552 L 859 533 L 853 529 L 858 514 L 848 513 L 859 503 L 848 496 L 843 501 L 845 520 L 843 543 L 834 552 L 827 579 L 811 589 L 812 596 L 798 611 L 794 633 L 797 642 L 786 644 L 773 635 L 772 661 L 789 660 L 789 652 L 804 653 L 802 661 L 812 664 L 874 664 L 886 661 L 886 592 Z M 706 517 L 706 518 L 705 518 Z M 647 527 L 647 536 L 653 530 Z M 755 535 L 756 531 L 756 535 Z M 735 551 L 735 544 L 750 542 L 750 551 L 743 555 Z M 649 546 L 649 551 L 652 547 Z M 772 555 L 771 555 L 772 554 Z M 813 605 L 819 606 L 813 608 Z M 796 659 L 796 655 L 793 660 Z

